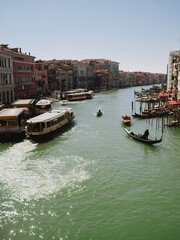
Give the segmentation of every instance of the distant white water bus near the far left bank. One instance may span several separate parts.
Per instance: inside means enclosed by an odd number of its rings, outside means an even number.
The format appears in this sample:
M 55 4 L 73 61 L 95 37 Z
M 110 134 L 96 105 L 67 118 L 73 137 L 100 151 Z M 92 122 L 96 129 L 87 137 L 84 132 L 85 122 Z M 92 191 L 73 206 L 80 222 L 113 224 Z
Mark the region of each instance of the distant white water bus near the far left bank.
M 62 93 L 62 96 L 69 101 L 80 101 L 93 98 L 94 93 L 93 91 L 87 91 L 87 89 L 75 89 Z

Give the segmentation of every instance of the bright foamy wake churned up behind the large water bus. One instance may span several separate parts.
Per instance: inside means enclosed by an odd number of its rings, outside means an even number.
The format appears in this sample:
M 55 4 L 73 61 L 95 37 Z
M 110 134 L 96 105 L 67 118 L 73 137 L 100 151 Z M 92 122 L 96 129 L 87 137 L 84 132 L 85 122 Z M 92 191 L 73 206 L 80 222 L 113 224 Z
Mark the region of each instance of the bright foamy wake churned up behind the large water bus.
M 89 178 L 88 161 L 78 156 L 52 156 L 37 151 L 37 144 L 25 140 L 0 156 L 0 181 L 14 198 L 54 197 L 64 188 L 79 189 L 78 183 Z

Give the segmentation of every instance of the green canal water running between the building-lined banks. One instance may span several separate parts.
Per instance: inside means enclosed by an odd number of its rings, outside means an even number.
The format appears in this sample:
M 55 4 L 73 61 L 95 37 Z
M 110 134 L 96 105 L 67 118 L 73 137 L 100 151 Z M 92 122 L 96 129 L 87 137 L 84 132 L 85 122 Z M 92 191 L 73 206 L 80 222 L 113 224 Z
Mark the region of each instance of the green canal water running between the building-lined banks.
M 127 136 L 134 90 L 71 103 L 73 123 L 46 142 L 0 144 L 1 240 L 179 240 L 180 129 L 153 146 Z M 159 138 L 161 125 L 133 119 L 130 129 Z

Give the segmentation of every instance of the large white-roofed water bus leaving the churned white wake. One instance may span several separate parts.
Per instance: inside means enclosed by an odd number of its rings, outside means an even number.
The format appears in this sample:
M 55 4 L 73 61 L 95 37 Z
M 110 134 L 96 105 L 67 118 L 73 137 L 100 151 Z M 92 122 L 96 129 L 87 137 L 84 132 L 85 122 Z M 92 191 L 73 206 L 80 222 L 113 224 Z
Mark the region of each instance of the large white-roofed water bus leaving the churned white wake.
M 71 108 L 54 109 L 27 121 L 26 135 L 41 139 L 63 128 L 74 119 Z

